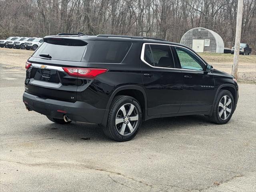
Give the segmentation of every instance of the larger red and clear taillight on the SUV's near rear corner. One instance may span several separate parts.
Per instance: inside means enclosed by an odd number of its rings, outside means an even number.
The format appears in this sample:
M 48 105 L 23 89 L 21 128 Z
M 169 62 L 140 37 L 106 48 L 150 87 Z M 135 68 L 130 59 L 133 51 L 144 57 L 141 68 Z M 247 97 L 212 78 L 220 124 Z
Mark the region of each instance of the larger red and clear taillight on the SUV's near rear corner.
M 108 71 L 107 69 L 72 68 L 72 67 L 63 67 L 63 70 L 69 76 L 91 78 L 91 79 L 94 79 L 96 76 L 106 73 Z

